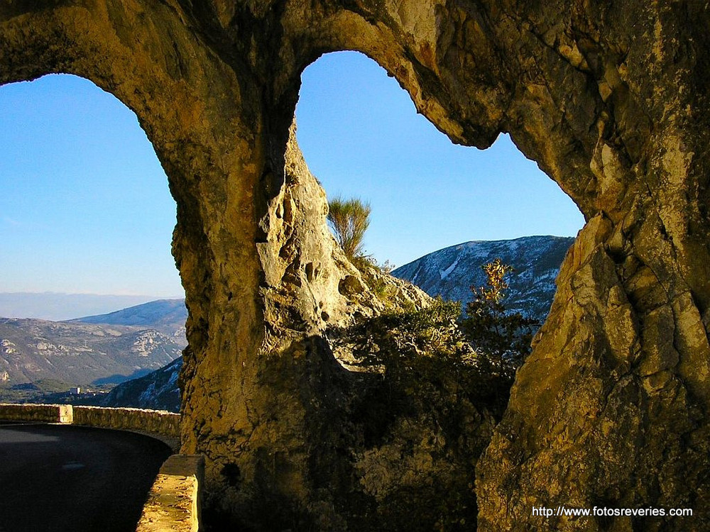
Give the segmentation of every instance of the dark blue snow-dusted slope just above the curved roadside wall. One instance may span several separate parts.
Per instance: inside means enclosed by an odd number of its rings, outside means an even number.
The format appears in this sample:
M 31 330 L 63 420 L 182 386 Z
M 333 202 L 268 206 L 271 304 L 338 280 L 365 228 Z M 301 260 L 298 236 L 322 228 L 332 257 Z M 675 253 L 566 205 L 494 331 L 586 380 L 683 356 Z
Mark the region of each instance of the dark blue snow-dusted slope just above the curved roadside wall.
M 99 406 L 132 406 L 133 408 L 180 411 L 178 376 L 182 357 L 145 377 L 119 384 L 99 399 Z

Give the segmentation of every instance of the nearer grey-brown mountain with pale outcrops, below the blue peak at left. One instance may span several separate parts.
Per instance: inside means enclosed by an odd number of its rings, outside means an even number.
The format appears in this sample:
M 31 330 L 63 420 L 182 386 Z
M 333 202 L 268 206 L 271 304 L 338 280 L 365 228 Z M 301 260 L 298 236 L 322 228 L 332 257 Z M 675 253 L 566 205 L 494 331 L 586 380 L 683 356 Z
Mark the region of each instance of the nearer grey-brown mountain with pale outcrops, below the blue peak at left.
M 0 318 L 0 385 L 55 379 L 115 384 L 172 362 L 182 347 L 154 329 Z

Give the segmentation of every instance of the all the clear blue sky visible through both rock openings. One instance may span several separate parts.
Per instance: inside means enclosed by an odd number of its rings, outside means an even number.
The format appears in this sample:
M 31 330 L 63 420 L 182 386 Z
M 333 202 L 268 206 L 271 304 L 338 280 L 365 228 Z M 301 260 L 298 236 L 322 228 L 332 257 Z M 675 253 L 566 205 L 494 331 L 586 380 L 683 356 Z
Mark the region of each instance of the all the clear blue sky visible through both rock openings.
M 0 292 L 180 297 L 175 203 L 136 116 L 84 79 L 0 87 Z M 329 196 L 372 206 L 366 250 L 396 265 L 467 240 L 574 235 L 582 218 L 506 137 L 452 145 L 363 55 L 308 67 L 298 140 Z

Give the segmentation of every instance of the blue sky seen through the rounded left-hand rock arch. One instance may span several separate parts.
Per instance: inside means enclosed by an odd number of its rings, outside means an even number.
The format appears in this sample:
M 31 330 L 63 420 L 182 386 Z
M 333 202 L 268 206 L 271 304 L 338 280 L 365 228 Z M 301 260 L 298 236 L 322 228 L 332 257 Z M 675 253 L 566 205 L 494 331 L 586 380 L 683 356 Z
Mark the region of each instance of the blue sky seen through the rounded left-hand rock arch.
M 0 292 L 180 297 L 175 202 L 136 116 L 84 79 L 0 87 Z

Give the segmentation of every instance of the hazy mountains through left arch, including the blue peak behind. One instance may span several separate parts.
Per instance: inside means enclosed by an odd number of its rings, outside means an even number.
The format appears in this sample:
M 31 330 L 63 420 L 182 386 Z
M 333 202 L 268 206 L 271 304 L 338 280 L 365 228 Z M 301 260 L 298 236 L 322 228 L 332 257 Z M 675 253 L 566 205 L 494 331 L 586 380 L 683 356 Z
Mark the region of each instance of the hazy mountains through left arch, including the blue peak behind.
M 72 321 L 0 318 L 0 399 L 28 384 L 58 392 L 158 370 L 182 355 L 186 318 L 182 299 Z

